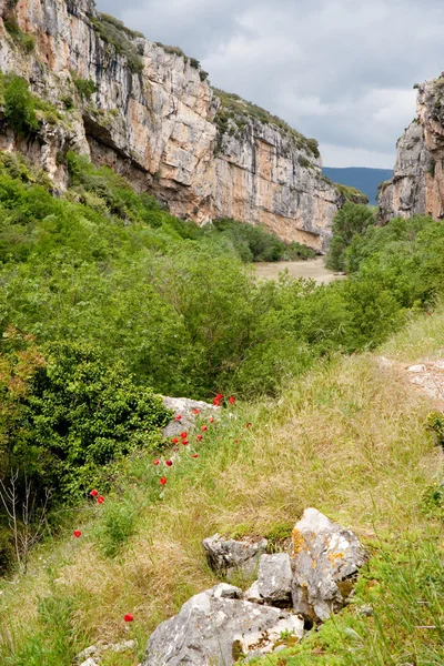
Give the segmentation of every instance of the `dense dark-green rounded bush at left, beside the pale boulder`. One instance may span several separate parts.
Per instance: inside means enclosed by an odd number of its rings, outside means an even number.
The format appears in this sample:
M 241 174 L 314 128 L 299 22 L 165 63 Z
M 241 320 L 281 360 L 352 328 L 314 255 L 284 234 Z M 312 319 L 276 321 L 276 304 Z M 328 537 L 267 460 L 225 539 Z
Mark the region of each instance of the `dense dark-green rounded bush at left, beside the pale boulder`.
M 168 413 L 121 364 L 77 342 L 52 343 L 44 356 L 29 337 L 16 335 L 13 346 L 8 335 L 0 356 L 3 475 L 21 470 L 53 502 L 78 502 L 92 485 L 105 485 L 107 465 L 158 444 Z

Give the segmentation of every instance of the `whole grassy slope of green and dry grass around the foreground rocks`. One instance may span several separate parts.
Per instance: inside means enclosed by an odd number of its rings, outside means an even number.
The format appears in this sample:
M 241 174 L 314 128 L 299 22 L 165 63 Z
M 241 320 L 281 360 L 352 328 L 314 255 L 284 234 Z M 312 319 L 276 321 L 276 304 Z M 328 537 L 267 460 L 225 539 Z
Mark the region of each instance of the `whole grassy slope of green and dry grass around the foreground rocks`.
M 441 307 L 379 355 L 411 362 L 443 346 Z M 444 624 L 441 526 L 422 511 L 425 490 L 442 475 L 441 451 L 424 428 L 431 408 L 376 355 L 343 357 L 289 387 L 278 404 L 239 405 L 236 417 L 224 415 L 198 460 L 185 450 L 174 464 L 163 500 L 152 461 L 129 461 L 103 507 L 135 508 L 129 544 L 111 559 L 102 554 L 104 514 L 91 507 L 68 517 L 67 535 L 80 525 L 81 539 L 41 546 L 28 577 L 0 583 L 0 612 L 9 618 L 0 628 L 0 663 L 68 665 L 97 639 L 133 635 L 143 648 L 159 622 L 215 583 L 204 536 L 285 533 L 315 506 L 355 529 L 374 557 L 345 612 L 301 648 L 264 664 L 444 664 L 443 629 L 415 628 Z M 359 615 L 364 602 L 373 617 Z M 122 622 L 128 612 L 135 618 L 130 629 Z M 105 666 L 135 666 L 140 656 Z

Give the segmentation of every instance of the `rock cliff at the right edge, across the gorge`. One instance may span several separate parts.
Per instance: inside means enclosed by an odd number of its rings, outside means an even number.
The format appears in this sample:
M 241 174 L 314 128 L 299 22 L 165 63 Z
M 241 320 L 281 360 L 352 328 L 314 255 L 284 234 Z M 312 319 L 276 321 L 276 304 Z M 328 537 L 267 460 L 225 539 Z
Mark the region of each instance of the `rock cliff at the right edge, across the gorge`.
M 418 87 L 417 118 L 397 142 L 393 179 L 379 196 L 380 219 L 444 219 L 444 78 Z

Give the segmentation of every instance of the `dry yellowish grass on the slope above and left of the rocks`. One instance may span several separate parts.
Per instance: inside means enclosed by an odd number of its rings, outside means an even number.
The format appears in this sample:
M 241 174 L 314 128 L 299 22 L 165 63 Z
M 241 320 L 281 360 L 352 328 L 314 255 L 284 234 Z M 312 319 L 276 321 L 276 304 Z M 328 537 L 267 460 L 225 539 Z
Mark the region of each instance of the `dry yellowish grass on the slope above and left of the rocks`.
M 434 321 L 412 324 L 383 353 L 397 351 L 401 359 L 405 352 L 414 360 L 436 350 L 443 320 L 436 313 Z M 433 344 L 418 342 L 432 335 Z M 144 640 L 190 595 L 214 584 L 201 547 L 204 536 L 239 526 L 266 534 L 295 522 L 307 506 L 370 544 L 421 535 L 426 528 L 421 497 L 442 467 L 424 428 L 431 408 L 430 400 L 396 371 L 381 369 L 376 357 L 339 359 L 290 387 L 279 403 L 224 415 L 198 461 L 186 456 L 174 465 L 163 501 L 147 502 L 151 461 L 132 462 L 124 493 L 140 512 L 123 555 L 114 561 L 100 555 L 88 536 L 93 522 L 83 525 L 82 542 L 42 547 L 26 579 L 12 589 L 2 584 L 1 613 L 9 617 L 3 640 L 9 632 L 20 644 L 24 627 L 27 635 L 37 630 L 36 598 L 54 591 L 75 597 L 74 624 L 84 643 L 128 636 L 122 622 L 128 612 L 135 617 L 130 632 Z

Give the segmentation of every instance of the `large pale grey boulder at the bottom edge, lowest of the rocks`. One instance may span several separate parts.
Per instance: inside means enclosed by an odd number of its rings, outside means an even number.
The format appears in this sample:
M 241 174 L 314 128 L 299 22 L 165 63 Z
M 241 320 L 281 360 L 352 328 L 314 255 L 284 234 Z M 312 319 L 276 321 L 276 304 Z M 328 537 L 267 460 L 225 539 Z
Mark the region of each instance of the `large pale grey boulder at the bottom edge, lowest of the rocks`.
M 282 632 L 303 636 L 296 615 L 215 596 L 220 586 L 189 599 L 151 635 L 142 666 L 231 666 L 241 654 L 271 652 Z

